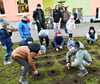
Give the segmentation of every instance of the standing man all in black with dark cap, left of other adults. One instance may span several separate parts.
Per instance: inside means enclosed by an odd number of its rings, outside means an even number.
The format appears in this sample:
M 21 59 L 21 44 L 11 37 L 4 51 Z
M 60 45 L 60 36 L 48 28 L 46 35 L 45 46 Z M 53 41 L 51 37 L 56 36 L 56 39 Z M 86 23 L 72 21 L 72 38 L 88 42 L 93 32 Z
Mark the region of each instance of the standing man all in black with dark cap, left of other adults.
M 37 9 L 33 12 L 33 18 L 36 21 L 36 25 L 38 27 L 38 33 L 40 32 L 41 27 L 43 29 L 46 29 L 45 17 L 44 17 L 44 12 L 41 9 L 41 4 L 37 4 Z

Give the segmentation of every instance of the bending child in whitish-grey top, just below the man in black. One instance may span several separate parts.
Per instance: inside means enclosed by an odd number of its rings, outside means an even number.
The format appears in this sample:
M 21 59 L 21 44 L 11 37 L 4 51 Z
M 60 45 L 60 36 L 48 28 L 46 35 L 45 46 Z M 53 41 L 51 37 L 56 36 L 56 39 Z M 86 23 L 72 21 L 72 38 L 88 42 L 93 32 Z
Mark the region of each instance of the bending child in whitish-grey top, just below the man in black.
M 39 39 L 40 39 L 41 45 L 46 44 L 46 48 L 49 48 L 49 31 L 47 29 L 41 30 L 39 32 Z

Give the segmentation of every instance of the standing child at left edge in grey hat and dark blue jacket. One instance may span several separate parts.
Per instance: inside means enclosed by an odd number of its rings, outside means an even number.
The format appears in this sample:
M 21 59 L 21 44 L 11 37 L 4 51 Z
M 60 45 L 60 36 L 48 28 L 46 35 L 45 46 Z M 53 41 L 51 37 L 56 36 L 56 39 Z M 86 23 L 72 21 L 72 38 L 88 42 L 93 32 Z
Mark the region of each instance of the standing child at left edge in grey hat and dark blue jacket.
M 11 52 L 13 51 L 12 46 L 12 31 L 13 27 L 9 25 L 9 23 L 6 20 L 3 20 L 0 18 L 0 21 L 2 22 L 2 28 L 0 29 L 0 41 L 2 44 L 2 48 L 5 50 L 6 54 L 4 57 L 4 65 L 11 64 L 9 61 L 9 58 L 11 56 Z

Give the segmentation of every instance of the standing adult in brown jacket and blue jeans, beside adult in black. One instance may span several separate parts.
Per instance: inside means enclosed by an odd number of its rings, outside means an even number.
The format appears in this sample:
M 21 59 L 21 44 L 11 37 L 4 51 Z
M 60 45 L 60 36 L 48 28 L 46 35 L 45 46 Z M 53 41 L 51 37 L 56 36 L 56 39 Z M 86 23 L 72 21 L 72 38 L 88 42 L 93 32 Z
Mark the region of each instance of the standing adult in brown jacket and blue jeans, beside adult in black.
M 70 14 L 69 14 L 69 12 L 67 11 L 67 7 L 63 7 L 62 16 L 63 16 L 63 17 L 62 17 L 62 20 L 63 20 L 63 25 L 64 25 L 65 33 L 66 33 L 66 36 L 68 36 L 66 23 L 67 23 L 67 21 L 68 21 L 69 18 L 70 18 Z

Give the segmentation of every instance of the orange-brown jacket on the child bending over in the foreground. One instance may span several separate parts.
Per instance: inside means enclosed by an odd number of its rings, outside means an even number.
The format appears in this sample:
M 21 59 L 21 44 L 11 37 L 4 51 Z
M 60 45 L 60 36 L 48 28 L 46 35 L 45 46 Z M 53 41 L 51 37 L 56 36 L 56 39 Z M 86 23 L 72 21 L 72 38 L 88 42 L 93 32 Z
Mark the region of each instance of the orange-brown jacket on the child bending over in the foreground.
M 36 56 L 36 53 L 34 53 L 34 52 L 30 53 L 30 49 L 28 48 L 28 46 L 21 46 L 21 47 L 16 48 L 12 52 L 12 56 L 16 59 L 27 60 L 32 71 L 36 70 L 34 60 L 32 59 Z

